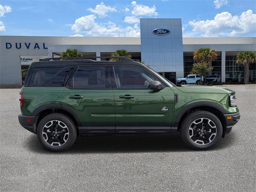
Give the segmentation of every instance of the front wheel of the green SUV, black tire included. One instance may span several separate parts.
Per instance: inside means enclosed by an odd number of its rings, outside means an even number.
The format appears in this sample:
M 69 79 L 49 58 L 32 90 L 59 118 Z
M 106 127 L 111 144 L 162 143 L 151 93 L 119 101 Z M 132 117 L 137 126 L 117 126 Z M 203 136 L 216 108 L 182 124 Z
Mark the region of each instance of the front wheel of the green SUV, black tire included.
M 202 122 L 200 122 L 201 120 Z M 198 122 L 198 124 L 195 124 L 195 122 Z M 204 124 L 204 122 L 207 123 Z M 200 124 L 202 124 L 201 129 Z M 202 133 L 202 131 L 206 132 Z M 180 134 L 184 143 L 197 150 L 204 150 L 214 146 L 222 137 L 222 132 L 223 128 L 220 120 L 208 111 L 196 111 L 188 114 L 180 127 Z

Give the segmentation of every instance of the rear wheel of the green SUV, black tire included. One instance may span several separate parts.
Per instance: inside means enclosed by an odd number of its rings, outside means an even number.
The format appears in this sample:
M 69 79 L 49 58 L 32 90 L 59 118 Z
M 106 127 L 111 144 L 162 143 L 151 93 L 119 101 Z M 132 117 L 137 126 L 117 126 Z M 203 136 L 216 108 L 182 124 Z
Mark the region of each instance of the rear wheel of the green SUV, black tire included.
M 49 126 L 49 128 L 47 126 Z M 46 129 L 48 130 L 46 131 Z M 53 129 L 55 129 L 55 131 L 51 132 Z M 59 132 L 58 135 L 54 134 L 56 133 L 56 130 Z M 39 141 L 44 146 L 44 148 L 50 151 L 63 151 L 70 148 L 75 142 L 76 136 L 77 130 L 74 121 L 70 117 L 61 113 L 52 113 L 45 116 L 39 122 L 37 127 L 37 137 Z M 49 140 L 48 137 L 50 137 Z M 46 140 L 48 140 L 48 142 Z M 53 146 L 51 144 L 53 144 Z

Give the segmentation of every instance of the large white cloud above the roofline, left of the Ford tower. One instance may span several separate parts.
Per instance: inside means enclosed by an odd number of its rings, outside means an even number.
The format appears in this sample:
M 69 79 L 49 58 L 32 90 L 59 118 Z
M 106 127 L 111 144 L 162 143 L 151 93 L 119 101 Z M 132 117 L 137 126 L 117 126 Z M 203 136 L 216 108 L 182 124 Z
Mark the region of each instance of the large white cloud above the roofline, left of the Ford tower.
M 116 26 L 113 22 L 98 23 L 96 15 L 82 16 L 75 20 L 72 30 L 76 33 L 85 33 L 90 36 L 114 36 L 114 37 L 139 37 L 140 29 L 138 24 L 133 27 Z

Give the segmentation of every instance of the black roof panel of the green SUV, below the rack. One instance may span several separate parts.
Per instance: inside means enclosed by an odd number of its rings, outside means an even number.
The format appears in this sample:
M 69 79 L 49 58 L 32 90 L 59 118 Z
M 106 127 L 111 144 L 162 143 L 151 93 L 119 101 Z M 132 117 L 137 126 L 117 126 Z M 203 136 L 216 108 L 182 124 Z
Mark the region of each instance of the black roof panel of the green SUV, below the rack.
M 137 65 L 137 66 L 144 66 L 143 64 L 139 62 L 134 62 L 134 61 L 95 61 L 95 60 L 53 60 L 53 61 L 40 61 L 40 62 L 33 62 L 30 65 L 30 68 L 42 68 L 42 67 L 47 67 L 47 68 L 53 68 L 53 67 L 65 67 L 69 65 L 92 65 L 92 64 L 107 64 L 107 65 L 120 65 L 120 64 L 132 64 L 132 65 Z

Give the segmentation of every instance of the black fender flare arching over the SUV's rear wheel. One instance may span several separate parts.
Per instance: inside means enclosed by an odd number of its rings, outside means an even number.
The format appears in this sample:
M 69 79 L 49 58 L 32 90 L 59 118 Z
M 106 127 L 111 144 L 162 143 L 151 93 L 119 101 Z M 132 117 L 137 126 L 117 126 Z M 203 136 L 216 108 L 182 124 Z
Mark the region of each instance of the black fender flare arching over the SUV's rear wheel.
M 70 113 L 76 120 L 76 123 L 78 124 L 78 126 L 82 126 L 82 122 L 79 118 L 79 116 L 76 114 L 76 112 L 74 112 L 74 110 L 72 110 L 70 107 L 65 106 L 65 105 L 61 105 L 61 104 L 45 104 L 42 105 L 38 108 L 36 108 L 34 110 L 34 112 L 32 112 L 32 115 L 36 116 L 38 115 L 40 112 L 47 110 L 47 109 L 61 109 L 64 110 L 68 113 Z

